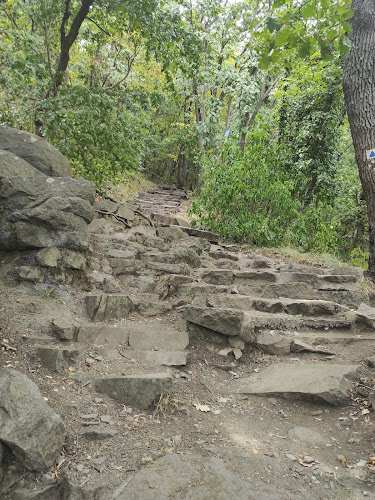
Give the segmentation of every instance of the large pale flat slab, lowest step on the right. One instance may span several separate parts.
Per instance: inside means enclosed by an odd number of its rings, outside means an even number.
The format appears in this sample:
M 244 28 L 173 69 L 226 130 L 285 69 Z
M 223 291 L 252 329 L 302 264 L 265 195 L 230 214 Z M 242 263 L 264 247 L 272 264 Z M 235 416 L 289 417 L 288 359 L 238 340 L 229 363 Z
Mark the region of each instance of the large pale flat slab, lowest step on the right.
M 347 391 L 351 382 L 348 377 L 353 377 L 358 368 L 354 365 L 277 363 L 236 382 L 234 389 L 242 394 L 281 396 L 343 406 L 350 402 Z

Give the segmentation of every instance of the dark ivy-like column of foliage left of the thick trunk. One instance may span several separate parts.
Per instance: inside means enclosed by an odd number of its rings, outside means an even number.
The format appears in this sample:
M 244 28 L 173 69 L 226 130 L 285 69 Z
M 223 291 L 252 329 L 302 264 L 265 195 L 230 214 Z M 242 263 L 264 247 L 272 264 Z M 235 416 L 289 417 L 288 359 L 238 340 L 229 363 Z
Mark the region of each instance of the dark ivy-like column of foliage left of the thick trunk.
M 288 151 L 284 168 L 307 206 L 336 194 L 339 129 L 344 118 L 341 72 L 322 62 L 299 63 L 284 79 L 279 140 Z

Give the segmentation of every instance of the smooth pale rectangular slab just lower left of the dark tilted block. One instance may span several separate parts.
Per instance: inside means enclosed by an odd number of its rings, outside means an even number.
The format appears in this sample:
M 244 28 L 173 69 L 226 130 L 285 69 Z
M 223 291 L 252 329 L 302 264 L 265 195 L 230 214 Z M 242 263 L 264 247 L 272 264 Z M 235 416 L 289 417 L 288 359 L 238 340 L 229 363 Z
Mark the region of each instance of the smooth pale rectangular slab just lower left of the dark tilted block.
M 133 349 L 183 351 L 189 344 L 189 335 L 180 330 L 168 330 L 155 322 L 153 325 L 129 325 L 129 345 Z

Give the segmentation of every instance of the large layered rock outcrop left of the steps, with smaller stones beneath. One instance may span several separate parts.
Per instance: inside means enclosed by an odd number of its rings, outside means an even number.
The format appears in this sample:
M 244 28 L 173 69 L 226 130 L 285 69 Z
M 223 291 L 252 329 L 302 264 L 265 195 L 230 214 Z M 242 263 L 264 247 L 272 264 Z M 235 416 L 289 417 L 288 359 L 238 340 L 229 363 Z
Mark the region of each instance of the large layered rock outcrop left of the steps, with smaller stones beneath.
M 21 254 L 17 278 L 70 283 L 86 265 L 95 187 L 72 179 L 44 139 L 0 126 L 0 250 Z M 77 273 L 76 273 L 77 274 Z

